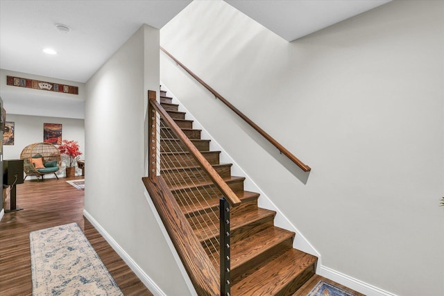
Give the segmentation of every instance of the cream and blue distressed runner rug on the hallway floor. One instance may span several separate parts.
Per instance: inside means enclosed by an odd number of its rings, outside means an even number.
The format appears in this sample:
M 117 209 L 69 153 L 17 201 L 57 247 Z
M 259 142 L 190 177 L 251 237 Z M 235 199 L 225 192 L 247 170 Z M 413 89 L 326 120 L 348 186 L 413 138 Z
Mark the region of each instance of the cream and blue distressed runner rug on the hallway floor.
M 33 296 L 122 295 L 77 223 L 31 232 Z

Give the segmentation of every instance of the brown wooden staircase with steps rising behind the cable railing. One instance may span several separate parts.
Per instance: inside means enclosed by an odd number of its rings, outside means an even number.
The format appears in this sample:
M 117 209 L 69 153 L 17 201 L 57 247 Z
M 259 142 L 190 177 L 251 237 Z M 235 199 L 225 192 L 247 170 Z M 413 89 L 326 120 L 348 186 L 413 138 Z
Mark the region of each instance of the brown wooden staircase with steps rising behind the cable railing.
M 293 249 L 294 232 L 274 226 L 275 211 L 257 207 L 259 193 L 244 191 L 245 177 L 231 175 L 232 164 L 219 162 L 220 151 L 210 151 L 210 140 L 200 139 L 200 130 L 193 129 L 193 122 L 185 119 L 185 112 L 178 112 L 178 105 L 173 104 L 164 91 L 160 91 L 160 103 L 242 202 L 231 211 L 231 295 L 296 293 L 315 274 L 316 256 Z M 205 174 L 200 174 L 200 168 L 189 166 L 187 160 L 192 158 L 189 153 L 176 152 L 167 145 L 173 137 L 169 128 L 161 125 L 160 137 L 160 174 L 169 184 L 214 268 L 219 270 L 218 235 L 213 235 L 219 233 L 219 220 L 202 215 L 219 211 L 218 191 Z M 190 180 L 181 177 L 189 171 L 202 177 Z M 205 189 L 205 194 L 195 195 L 191 202 L 180 200 L 183 192 L 193 193 L 198 189 Z

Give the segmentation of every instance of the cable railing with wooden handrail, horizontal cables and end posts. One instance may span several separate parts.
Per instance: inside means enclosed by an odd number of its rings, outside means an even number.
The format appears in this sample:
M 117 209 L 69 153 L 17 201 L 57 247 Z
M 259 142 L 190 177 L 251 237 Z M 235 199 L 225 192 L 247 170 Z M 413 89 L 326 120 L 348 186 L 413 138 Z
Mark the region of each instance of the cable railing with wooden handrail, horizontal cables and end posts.
M 152 192 L 154 193 L 151 198 L 153 202 L 154 199 L 157 199 L 157 202 L 154 202 L 155 205 L 171 202 L 173 205 L 170 207 L 180 210 L 180 212 L 175 211 L 176 218 L 180 216 L 180 223 L 186 221 L 189 226 L 186 234 L 185 231 L 182 233 L 169 231 L 170 236 L 175 236 L 171 240 L 175 244 L 176 250 L 178 247 L 183 247 L 183 242 L 177 241 L 181 241 L 180 236 L 184 236 L 184 234 L 187 236 L 186 239 L 195 241 L 194 248 L 197 247 L 196 242 L 200 244 L 196 254 L 194 254 L 195 250 L 189 247 L 180 250 L 180 252 L 178 250 L 184 265 L 186 267 L 191 265 L 187 271 L 196 290 L 203 288 L 202 282 L 212 274 L 214 275 L 215 268 L 219 268 L 220 277 L 210 280 L 210 283 L 214 284 L 214 281 L 219 281 L 217 294 L 230 295 L 230 207 L 239 205 L 241 201 L 171 119 L 168 112 L 155 100 L 155 92 L 148 91 L 148 98 L 150 165 L 148 180 L 144 180 L 148 193 L 150 195 Z M 160 137 L 157 137 L 159 132 Z M 162 187 L 167 191 L 165 193 L 167 197 L 157 198 L 158 193 L 153 189 L 148 189 L 148 186 L 153 186 L 154 182 L 161 182 L 163 186 L 167 186 L 167 189 Z M 160 207 L 162 211 L 165 206 L 156 205 L 157 207 Z M 167 214 L 167 216 L 169 215 L 171 214 Z M 161 214 L 160 216 L 162 218 Z M 168 220 L 168 217 L 165 219 Z M 163 220 L 164 218 L 162 218 Z M 170 222 L 164 222 L 166 228 Z M 175 225 L 173 228 L 178 227 L 181 225 Z M 209 261 L 202 258 L 203 254 L 207 255 Z M 209 268 L 212 272 L 202 268 L 196 270 L 193 256 L 199 256 L 198 260 L 205 261 L 206 265 L 210 262 L 212 268 Z M 199 265 L 202 264 L 199 263 Z M 192 272 L 193 270 L 198 275 Z M 199 275 L 199 273 L 201 274 Z M 211 289 L 214 289 L 213 285 L 210 286 Z M 207 289 L 210 287 L 204 287 L 200 293 L 214 295 L 214 290 L 208 292 Z M 200 293 L 199 295 L 201 295 Z

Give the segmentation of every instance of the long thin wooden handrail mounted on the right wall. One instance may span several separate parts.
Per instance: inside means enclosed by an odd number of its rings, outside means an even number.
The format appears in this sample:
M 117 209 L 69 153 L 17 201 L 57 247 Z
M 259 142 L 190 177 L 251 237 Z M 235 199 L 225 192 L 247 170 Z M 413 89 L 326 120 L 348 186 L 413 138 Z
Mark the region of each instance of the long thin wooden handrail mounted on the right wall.
M 225 98 L 223 98 L 223 96 L 221 96 L 221 94 L 219 94 L 218 92 L 216 92 L 214 89 L 212 89 L 212 87 L 210 87 L 210 85 L 207 85 L 207 83 L 205 83 L 205 81 L 203 81 L 202 79 L 200 79 L 198 76 L 196 76 L 196 74 L 194 74 L 190 69 L 188 69 L 187 67 L 185 67 L 184 64 L 182 64 L 181 62 L 179 62 L 176 58 L 173 57 L 173 55 L 171 55 L 171 53 L 169 53 L 167 50 L 165 50 L 162 46 L 160 46 L 160 49 L 166 53 L 172 60 L 174 60 L 174 62 L 176 62 L 180 67 L 182 67 L 185 71 L 187 71 L 189 73 L 189 75 L 191 75 L 194 79 L 196 79 L 198 82 L 200 82 L 201 85 L 203 85 L 206 89 L 208 89 L 214 96 L 216 96 L 216 98 L 219 98 L 219 100 L 222 101 L 222 103 L 224 103 L 225 105 L 227 105 L 232 111 L 234 111 L 234 113 L 236 113 L 237 115 L 239 115 L 241 117 L 241 119 L 244 119 L 244 121 L 246 121 L 246 123 L 248 123 L 252 128 L 254 128 L 257 132 L 259 132 L 259 134 L 262 134 L 262 137 L 264 137 L 265 139 L 267 139 L 270 143 L 273 144 L 273 146 L 275 146 L 276 148 L 278 148 L 278 150 L 283 153 L 285 156 L 287 156 L 292 162 L 294 162 L 297 166 L 299 166 L 302 171 L 308 172 L 311 171 L 311 168 L 309 166 L 307 166 L 307 164 L 304 164 L 303 162 L 301 162 L 298 157 L 294 156 L 289 150 L 287 150 L 287 148 L 285 148 L 284 146 L 282 146 L 278 141 L 276 141 L 275 139 L 273 139 L 273 137 L 271 137 L 269 134 L 267 134 L 264 130 L 262 130 L 262 128 L 260 128 L 256 123 L 254 123 L 253 121 L 251 121 L 251 119 L 249 119 L 244 113 L 240 112 L 236 107 L 234 107 L 230 102 L 228 102 Z

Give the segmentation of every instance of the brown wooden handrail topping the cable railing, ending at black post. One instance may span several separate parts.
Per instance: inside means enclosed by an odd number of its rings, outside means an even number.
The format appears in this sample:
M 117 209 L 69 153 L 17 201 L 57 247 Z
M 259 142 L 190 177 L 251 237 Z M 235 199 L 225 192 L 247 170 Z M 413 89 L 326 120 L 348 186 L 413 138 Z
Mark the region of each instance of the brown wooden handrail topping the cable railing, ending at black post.
M 210 179 L 214 182 L 214 184 L 217 186 L 217 188 L 221 191 L 223 196 L 230 202 L 230 205 L 232 207 L 237 207 L 239 204 L 241 204 L 241 200 L 237 197 L 236 193 L 232 191 L 230 186 L 222 179 L 222 177 L 219 175 L 219 173 L 214 170 L 213 166 L 203 157 L 203 155 L 200 153 L 200 151 L 194 146 L 194 144 L 188 139 L 188 137 L 180 130 L 178 125 L 171 119 L 171 116 L 167 113 L 167 111 L 164 110 L 164 108 L 160 105 L 160 103 L 157 103 L 155 98 L 150 98 L 149 100 L 150 105 L 160 113 L 162 118 L 164 119 L 165 123 L 171 128 L 171 130 L 178 136 L 178 138 L 182 141 L 182 143 L 185 144 L 191 155 L 196 159 L 198 164 L 200 165 L 203 170 L 207 172 L 207 175 L 210 177 Z

